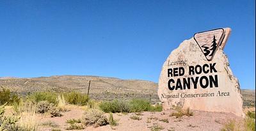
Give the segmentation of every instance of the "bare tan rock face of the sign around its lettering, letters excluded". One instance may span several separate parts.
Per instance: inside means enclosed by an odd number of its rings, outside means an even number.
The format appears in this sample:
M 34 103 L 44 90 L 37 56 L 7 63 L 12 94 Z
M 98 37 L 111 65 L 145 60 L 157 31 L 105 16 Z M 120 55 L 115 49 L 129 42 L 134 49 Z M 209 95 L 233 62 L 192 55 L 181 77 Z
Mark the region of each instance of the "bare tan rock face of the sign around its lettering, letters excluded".
M 184 61 L 186 65 L 172 65 L 168 66 L 170 61 Z M 216 63 L 215 68 L 217 72 L 214 73 L 202 73 L 200 75 L 189 75 L 188 66 L 204 65 L 205 63 Z M 197 89 L 193 88 L 193 84 L 190 83 L 191 89 L 178 89 L 170 90 L 168 88 L 168 68 L 183 67 L 185 73 L 180 77 L 172 77 L 175 81 L 177 79 L 188 77 L 202 77 L 202 75 L 218 75 L 218 88 L 201 88 L 197 84 Z M 163 102 L 164 109 L 172 109 L 173 106 L 181 106 L 183 108 L 189 107 L 190 109 L 212 112 L 232 112 L 237 116 L 244 116 L 243 113 L 243 100 L 240 92 L 239 82 L 234 77 L 228 63 L 227 56 L 223 50 L 218 49 L 212 61 L 207 61 L 200 47 L 196 44 L 193 38 L 185 40 L 180 43 L 179 47 L 172 51 L 170 56 L 164 62 L 161 75 L 159 77 L 159 89 L 158 96 L 161 102 Z M 229 93 L 229 96 L 217 96 L 218 92 Z M 193 98 L 163 98 L 166 95 L 176 95 L 177 93 L 197 94 L 197 93 L 214 93 L 214 96 L 207 97 L 193 97 Z M 180 95 L 180 94 L 179 94 Z

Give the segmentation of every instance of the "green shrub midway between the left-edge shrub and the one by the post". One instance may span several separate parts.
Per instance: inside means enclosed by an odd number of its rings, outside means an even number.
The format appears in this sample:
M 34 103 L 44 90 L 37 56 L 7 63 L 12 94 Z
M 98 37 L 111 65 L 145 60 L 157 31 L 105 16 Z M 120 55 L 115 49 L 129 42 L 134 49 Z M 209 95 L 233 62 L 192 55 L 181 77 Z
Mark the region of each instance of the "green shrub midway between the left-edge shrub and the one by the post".
M 47 101 L 51 104 L 58 104 L 57 101 L 57 94 L 56 93 L 51 93 L 51 92 L 35 92 L 31 95 L 28 96 L 29 100 L 33 102 L 41 102 L 41 101 Z

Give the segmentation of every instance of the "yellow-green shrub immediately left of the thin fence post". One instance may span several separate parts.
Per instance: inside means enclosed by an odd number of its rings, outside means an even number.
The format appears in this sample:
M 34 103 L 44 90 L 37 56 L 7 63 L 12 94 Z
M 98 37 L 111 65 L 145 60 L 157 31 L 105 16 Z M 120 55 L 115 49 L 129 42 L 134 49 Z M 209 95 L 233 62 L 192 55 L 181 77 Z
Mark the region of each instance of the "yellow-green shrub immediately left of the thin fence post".
M 68 104 L 74 104 L 74 105 L 86 105 L 86 103 L 89 100 L 87 95 L 84 95 L 82 93 L 78 93 L 75 91 L 72 91 L 70 93 L 65 93 L 64 96 Z

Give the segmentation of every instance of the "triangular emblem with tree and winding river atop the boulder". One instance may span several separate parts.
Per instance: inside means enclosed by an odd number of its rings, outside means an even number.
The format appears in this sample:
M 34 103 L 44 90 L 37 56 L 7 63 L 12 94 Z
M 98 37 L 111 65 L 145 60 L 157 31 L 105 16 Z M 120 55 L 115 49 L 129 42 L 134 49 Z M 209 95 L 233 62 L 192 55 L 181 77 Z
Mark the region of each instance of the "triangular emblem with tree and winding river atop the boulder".
M 195 33 L 194 35 L 194 39 L 204 53 L 207 61 L 212 60 L 216 50 L 219 49 L 224 37 L 225 31 L 222 28 Z

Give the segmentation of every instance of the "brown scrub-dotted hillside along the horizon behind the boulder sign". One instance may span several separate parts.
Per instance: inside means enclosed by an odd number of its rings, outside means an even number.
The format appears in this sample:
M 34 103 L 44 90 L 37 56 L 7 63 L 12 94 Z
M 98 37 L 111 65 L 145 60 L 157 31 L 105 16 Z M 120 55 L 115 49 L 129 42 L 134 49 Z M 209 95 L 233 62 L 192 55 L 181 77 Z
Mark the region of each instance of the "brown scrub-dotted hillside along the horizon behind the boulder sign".
M 36 91 L 79 91 L 87 93 L 89 81 L 91 81 L 89 95 L 97 100 L 148 98 L 152 102 L 159 102 L 157 83 L 141 80 L 79 75 L 36 78 L 2 77 L 0 78 L 0 86 L 11 89 L 11 91 L 20 95 Z M 255 90 L 242 89 L 242 95 L 244 105 L 255 106 Z

